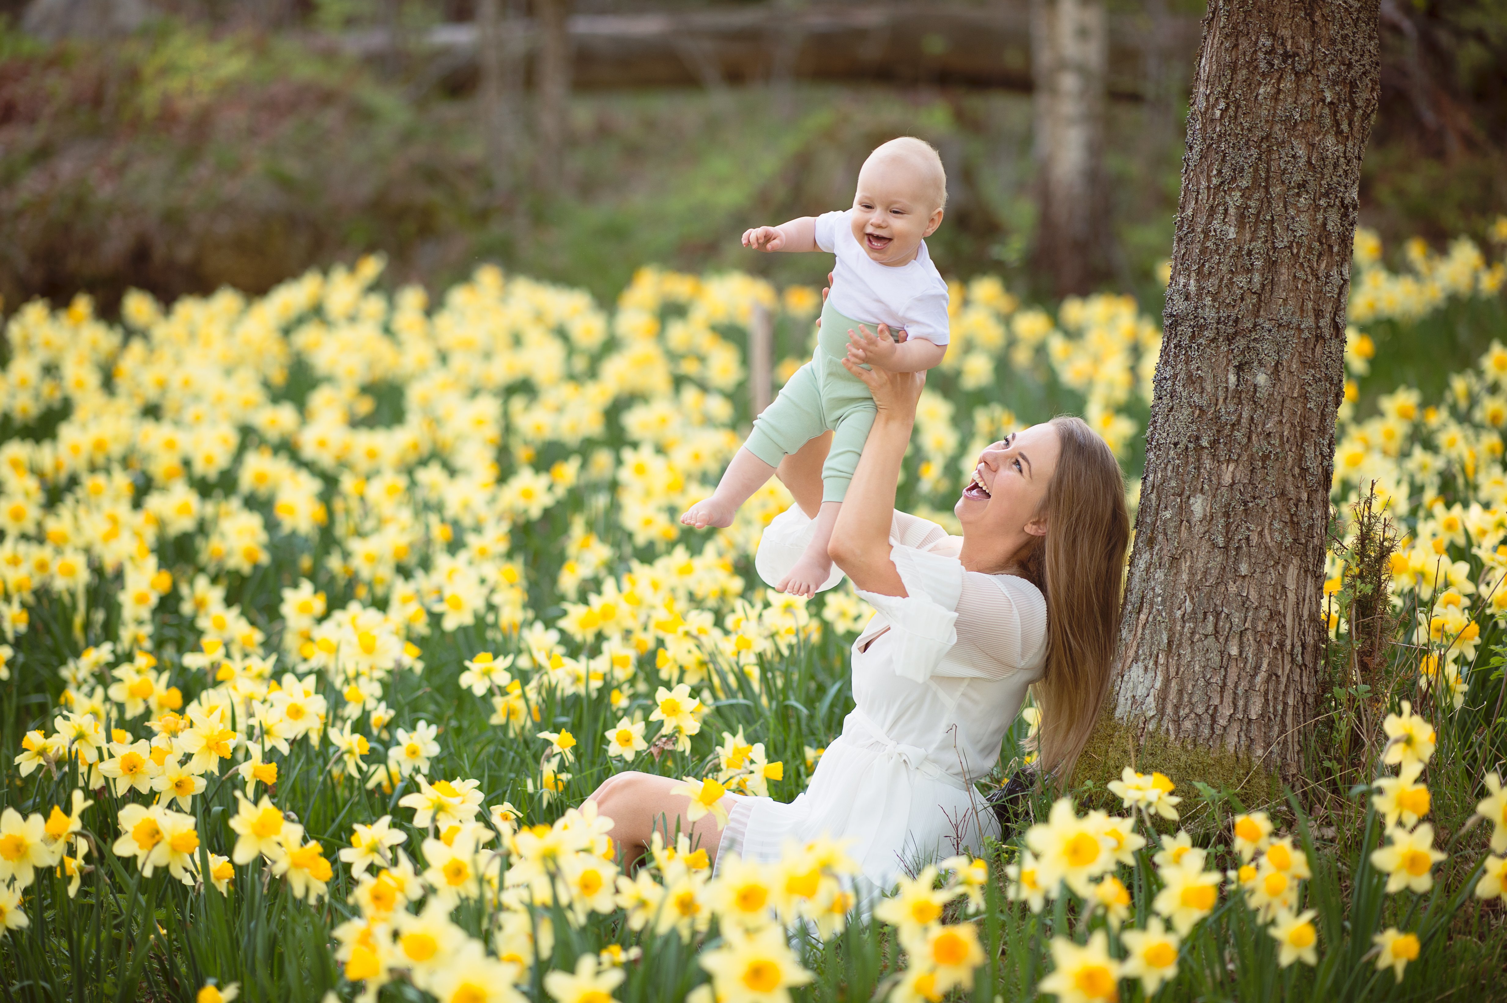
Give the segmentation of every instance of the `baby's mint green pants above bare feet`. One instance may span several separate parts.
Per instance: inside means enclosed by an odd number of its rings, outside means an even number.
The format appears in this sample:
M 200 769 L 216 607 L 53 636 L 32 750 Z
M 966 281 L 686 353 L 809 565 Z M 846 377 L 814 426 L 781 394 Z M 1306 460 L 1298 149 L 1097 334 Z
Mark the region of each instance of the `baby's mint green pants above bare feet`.
M 775 402 L 754 419 L 743 444 L 750 453 L 778 467 L 779 461 L 808 441 L 832 431 L 832 449 L 821 465 L 821 500 L 841 502 L 857 468 L 868 429 L 874 425 L 874 398 L 862 380 L 842 367 L 847 333 L 859 321 L 842 316 L 827 300 L 821 307 L 821 330 L 811 361 L 796 370 Z M 873 333 L 877 327 L 864 321 Z

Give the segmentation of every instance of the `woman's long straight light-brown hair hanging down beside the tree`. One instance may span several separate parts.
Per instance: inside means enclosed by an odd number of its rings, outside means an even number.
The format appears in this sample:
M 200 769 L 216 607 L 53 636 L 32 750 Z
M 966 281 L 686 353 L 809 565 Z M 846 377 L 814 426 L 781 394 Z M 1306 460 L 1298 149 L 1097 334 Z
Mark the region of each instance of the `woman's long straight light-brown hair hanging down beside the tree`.
M 1041 709 L 1037 751 L 1046 774 L 1067 782 L 1109 693 L 1120 631 L 1130 518 L 1120 462 L 1087 422 L 1058 416 L 1061 452 L 1034 536 L 1016 566 L 1046 596 L 1046 675 L 1034 684 Z

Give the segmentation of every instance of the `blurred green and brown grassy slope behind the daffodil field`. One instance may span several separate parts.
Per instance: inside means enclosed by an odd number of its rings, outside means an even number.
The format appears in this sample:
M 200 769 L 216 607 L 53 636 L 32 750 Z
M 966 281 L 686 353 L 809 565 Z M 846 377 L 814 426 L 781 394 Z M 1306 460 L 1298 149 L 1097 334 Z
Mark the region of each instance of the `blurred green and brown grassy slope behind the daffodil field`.
M 1460 51 L 1490 54 L 1501 3 L 1429 17 Z M 369 24 L 372 11 L 319 0 L 310 23 Z M 833 84 L 796 84 L 785 101 L 763 87 L 579 93 L 561 194 L 546 196 L 521 167 L 494 188 L 464 81 L 414 60 L 380 72 L 294 33 L 196 24 L 161 18 L 122 42 L 62 47 L 0 27 L 0 294 L 11 307 L 87 291 L 110 312 L 130 286 L 164 298 L 222 285 L 258 292 L 371 250 L 389 255 L 392 280 L 431 289 L 481 261 L 603 300 L 643 264 L 815 283 L 814 259 L 754 255 L 737 235 L 847 205 L 867 151 L 903 133 L 936 143 L 948 166 L 948 218 L 928 241 L 943 273 L 1001 274 L 1038 298 L 1028 95 Z M 1460 69 L 1462 86 L 1489 99 L 1496 75 L 1477 63 Z M 1406 105 L 1398 93 L 1383 80 L 1362 223 L 1389 245 L 1478 235 L 1507 209 L 1501 155 L 1489 143 L 1430 155 L 1432 140 L 1394 108 Z M 1106 117 L 1111 286 L 1156 312 L 1181 108 L 1117 101 Z M 527 131 L 505 137 L 517 166 L 529 163 Z

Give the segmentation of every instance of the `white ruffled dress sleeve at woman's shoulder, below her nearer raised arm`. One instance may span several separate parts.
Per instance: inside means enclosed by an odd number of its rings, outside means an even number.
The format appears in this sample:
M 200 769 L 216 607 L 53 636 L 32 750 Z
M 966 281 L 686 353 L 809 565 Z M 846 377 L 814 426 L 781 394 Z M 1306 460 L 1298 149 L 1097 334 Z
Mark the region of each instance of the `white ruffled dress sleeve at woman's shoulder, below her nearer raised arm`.
M 895 673 L 925 682 L 937 675 L 939 663 L 957 643 L 963 565 L 955 557 L 904 545 L 892 547 L 889 559 L 895 562 L 906 595 L 879 595 L 862 589 L 857 593 L 885 617 L 894 634 L 889 643 L 894 646 Z

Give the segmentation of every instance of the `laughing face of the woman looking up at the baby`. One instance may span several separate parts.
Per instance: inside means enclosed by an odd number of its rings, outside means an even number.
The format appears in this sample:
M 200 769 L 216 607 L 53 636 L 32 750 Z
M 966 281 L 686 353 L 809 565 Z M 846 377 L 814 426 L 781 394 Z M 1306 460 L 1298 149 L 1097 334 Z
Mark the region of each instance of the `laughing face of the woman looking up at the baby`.
M 1047 485 L 1056 473 L 1061 443 L 1050 425 L 1032 425 L 993 443 L 978 456 L 974 477 L 952 514 L 963 535 L 975 541 L 999 541 L 1008 560 L 1026 536 L 1046 535 L 1046 518 L 1037 518 Z

